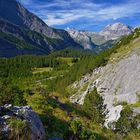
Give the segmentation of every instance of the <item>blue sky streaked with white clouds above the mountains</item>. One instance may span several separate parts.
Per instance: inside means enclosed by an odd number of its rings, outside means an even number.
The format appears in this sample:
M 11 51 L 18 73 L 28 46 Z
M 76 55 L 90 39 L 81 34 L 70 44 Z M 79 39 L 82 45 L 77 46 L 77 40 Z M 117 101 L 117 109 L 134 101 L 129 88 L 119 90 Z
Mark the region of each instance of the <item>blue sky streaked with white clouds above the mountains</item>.
M 107 24 L 140 25 L 140 0 L 19 0 L 55 28 L 100 31 Z

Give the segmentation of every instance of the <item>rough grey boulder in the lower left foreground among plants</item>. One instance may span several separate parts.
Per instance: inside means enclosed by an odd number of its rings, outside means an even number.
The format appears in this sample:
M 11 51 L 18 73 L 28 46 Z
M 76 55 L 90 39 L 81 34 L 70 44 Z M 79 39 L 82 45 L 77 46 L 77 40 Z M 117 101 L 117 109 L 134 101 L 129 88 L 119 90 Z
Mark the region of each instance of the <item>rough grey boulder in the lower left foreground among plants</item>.
M 0 125 L 3 126 L 4 135 L 11 130 L 8 120 L 15 117 L 17 120 L 27 121 L 31 130 L 32 140 L 45 140 L 45 130 L 39 116 L 28 106 L 18 107 L 6 104 L 0 107 Z

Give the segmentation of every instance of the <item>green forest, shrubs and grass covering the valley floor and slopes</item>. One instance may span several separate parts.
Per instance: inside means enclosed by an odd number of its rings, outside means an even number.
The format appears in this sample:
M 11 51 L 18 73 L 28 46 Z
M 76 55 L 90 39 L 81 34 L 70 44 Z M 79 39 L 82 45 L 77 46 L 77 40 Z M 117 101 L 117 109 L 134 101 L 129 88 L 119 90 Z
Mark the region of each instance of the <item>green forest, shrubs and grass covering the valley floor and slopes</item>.
M 138 140 L 139 116 L 131 107 L 121 112 L 115 130 L 104 128 L 106 106 L 96 87 L 84 105 L 72 104 L 69 85 L 93 69 L 105 66 L 138 38 L 140 30 L 123 37 L 113 48 L 100 54 L 66 49 L 48 56 L 17 56 L 0 59 L 0 105 L 29 105 L 37 112 L 46 130 L 46 139 Z M 122 52 L 122 51 L 121 51 Z M 123 53 L 123 52 L 122 52 Z M 129 115 L 130 117 L 129 117 Z

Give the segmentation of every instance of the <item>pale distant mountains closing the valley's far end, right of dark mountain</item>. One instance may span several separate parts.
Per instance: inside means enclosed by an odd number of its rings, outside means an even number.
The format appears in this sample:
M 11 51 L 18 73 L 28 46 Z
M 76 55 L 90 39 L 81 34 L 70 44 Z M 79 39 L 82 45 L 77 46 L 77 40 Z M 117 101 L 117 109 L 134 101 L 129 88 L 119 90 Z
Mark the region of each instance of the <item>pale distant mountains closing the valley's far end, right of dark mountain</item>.
M 70 36 L 83 46 L 84 49 L 103 50 L 106 47 L 111 47 L 112 44 L 123 35 L 128 35 L 133 31 L 133 28 L 122 24 L 115 23 L 107 25 L 101 32 L 78 31 L 75 29 L 66 30 Z

